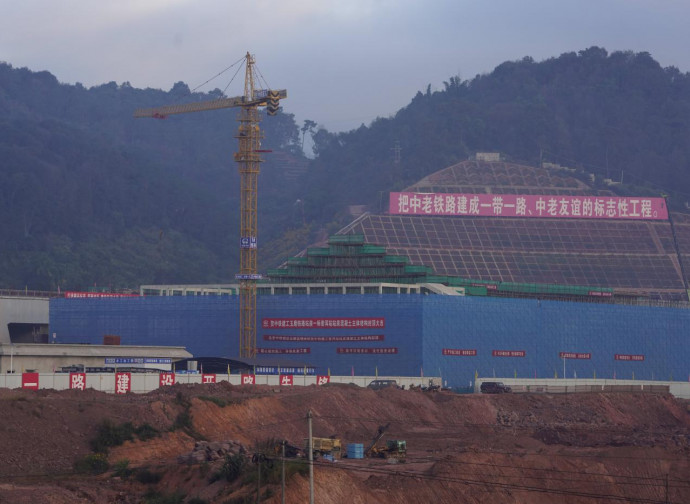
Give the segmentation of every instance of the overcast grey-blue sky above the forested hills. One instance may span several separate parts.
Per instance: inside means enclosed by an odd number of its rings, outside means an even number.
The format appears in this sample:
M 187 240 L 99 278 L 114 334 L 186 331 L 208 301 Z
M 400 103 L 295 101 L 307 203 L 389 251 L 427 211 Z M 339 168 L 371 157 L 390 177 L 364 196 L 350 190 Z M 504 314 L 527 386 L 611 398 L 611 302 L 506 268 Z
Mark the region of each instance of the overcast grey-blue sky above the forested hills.
M 87 87 L 169 90 L 249 51 L 300 124 L 343 131 L 524 56 L 598 45 L 687 72 L 689 26 L 689 0 L 0 0 L 0 61 Z

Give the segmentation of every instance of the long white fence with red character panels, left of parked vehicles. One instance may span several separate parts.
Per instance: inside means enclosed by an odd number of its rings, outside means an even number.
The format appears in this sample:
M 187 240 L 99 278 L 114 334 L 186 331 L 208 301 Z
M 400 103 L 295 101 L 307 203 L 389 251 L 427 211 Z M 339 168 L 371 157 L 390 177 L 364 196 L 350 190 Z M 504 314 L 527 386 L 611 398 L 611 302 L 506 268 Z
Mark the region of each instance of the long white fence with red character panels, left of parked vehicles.
M 38 374 L 36 386 L 35 375 Z M 74 373 L 0 373 L 0 388 L 6 389 L 27 389 L 38 388 L 52 390 L 67 390 L 76 388 L 71 382 L 71 375 Z M 93 389 L 101 392 L 116 393 L 118 384 L 116 382 L 118 373 L 84 373 L 84 389 Z M 158 373 L 127 373 L 127 392 L 135 394 L 145 394 L 156 390 L 161 385 L 161 375 Z M 165 374 L 165 373 L 164 373 Z M 367 387 L 374 380 L 395 380 L 399 387 L 410 389 L 413 387 L 427 387 L 429 385 L 440 385 L 439 377 L 410 377 L 410 376 L 314 376 L 314 375 L 261 375 L 261 374 L 201 374 L 201 373 L 171 373 L 174 379 L 170 385 L 174 384 L 213 384 L 228 382 L 231 385 L 270 385 L 281 386 L 324 386 L 328 384 L 346 384 Z M 27 377 L 31 375 L 30 386 L 27 386 Z M 285 377 L 288 377 L 287 379 Z M 243 383 L 252 377 L 251 382 Z

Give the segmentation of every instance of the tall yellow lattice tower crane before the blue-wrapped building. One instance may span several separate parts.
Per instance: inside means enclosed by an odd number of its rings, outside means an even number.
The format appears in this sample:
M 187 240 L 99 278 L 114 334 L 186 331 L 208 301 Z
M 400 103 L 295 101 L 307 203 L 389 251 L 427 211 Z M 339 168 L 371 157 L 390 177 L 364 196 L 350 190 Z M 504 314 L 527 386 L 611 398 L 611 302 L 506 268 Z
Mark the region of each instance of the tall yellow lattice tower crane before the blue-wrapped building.
M 287 98 L 287 91 L 254 88 L 254 58 L 245 56 L 244 95 L 203 102 L 167 105 L 138 109 L 134 117 L 165 119 L 173 114 L 187 114 L 231 107 L 240 107 L 237 135 L 239 148 L 235 153 L 240 172 L 240 357 L 256 356 L 256 281 L 257 270 L 257 182 L 261 159 L 259 107 L 267 107 L 268 115 L 275 115 L 279 102 Z

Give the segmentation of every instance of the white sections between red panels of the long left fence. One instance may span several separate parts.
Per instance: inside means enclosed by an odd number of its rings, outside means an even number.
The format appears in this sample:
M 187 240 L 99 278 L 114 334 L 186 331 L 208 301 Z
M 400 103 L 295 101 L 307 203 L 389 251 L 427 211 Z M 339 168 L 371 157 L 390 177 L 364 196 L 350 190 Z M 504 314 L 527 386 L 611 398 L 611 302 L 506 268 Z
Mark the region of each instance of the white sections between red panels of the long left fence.
M 85 373 L 85 388 L 91 388 L 102 392 L 115 393 L 115 374 L 113 373 Z M 318 376 L 288 375 L 292 377 L 292 386 L 317 385 Z M 175 383 L 204 383 L 204 377 L 213 377 L 211 383 L 221 381 L 229 382 L 232 385 L 242 384 L 242 375 L 238 374 L 186 374 L 176 373 Z M 324 377 L 322 377 L 323 380 Z M 206 378 L 207 380 L 209 378 Z M 398 385 L 404 385 L 406 389 L 410 385 L 427 386 L 431 381 L 433 384 L 440 384 L 441 379 L 437 377 L 409 377 L 409 376 L 330 376 L 330 383 L 353 384 L 366 387 L 373 380 L 396 380 Z M 256 385 L 281 386 L 280 376 L 278 375 L 254 375 Z M 147 393 L 159 388 L 160 376 L 156 373 L 131 373 L 130 392 Z M 283 385 L 284 386 L 284 385 Z M 0 374 L 0 388 L 18 389 L 22 388 L 22 373 Z M 39 389 L 66 390 L 70 388 L 70 373 L 39 373 Z

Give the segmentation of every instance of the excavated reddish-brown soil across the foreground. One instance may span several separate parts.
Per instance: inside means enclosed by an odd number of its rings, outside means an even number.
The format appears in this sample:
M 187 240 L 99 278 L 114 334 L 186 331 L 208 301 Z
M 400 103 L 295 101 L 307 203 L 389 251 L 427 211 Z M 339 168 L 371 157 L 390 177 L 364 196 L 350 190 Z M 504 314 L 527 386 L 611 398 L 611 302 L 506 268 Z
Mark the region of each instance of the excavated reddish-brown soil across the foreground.
M 383 441 L 404 439 L 408 450 L 405 463 L 317 459 L 317 503 L 690 502 L 690 411 L 669 395 L 222 382 L 126 396 L 0 390 L 0 503 L 255 502 L 251 457 L 262 452 L 274 468 L 261 501 L 278 504 L 280 461 L 267 446 L 282 439 L 302 446 L 308 411 L 314 436 L 366 446 L 390 424 Z M 104 421 L 158 435 L 111 447 L 102 474 L 75 469 L 93 458 Z M 247 461 L 233 482 L 219 477 L 226 455 Z M 286 502 L 309 501 L 307 467 L 292 461 Z

